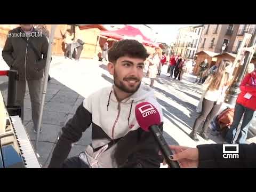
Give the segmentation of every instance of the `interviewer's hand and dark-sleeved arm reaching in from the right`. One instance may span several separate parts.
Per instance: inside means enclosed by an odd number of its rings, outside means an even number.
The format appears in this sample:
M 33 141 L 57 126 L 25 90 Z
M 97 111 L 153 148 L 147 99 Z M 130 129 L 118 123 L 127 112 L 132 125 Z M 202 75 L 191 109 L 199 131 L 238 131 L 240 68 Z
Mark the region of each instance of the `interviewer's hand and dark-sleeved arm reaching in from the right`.
M 174 151 L 170 157 L 178 161 L 181 168 L 252 168 L 256 167 L 256 144 L 238 145 L 238 158 L 227 158 L 223 155 L 222 144 L 198 145 L 196 148 L 169 146 Z M 166 165 L 165 161 L 163 163 Z

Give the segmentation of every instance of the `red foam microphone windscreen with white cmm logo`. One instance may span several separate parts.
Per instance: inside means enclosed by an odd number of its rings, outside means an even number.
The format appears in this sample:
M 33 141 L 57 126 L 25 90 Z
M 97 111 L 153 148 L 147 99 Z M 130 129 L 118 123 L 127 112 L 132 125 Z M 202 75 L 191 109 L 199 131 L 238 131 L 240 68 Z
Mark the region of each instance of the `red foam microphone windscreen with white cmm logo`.
M 135 117 L 144 131 L 149 131 L 151 125 L 160 125 L 161 123 L 159 112 L 149 102 L 139 103 L 135 107 Z

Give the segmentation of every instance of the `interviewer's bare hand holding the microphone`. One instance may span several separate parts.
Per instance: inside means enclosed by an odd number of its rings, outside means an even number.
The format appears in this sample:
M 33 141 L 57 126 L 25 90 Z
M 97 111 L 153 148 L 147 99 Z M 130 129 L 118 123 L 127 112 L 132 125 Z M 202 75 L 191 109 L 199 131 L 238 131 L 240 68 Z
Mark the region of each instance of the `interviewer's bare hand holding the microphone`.
M 175 154 L 170 157 L 171 161 L 178 161 L 181 168 L 198 167 L 198 149 L 183 146 L 169 146 Z M 166 165 L 164 159 L 163 165 Z

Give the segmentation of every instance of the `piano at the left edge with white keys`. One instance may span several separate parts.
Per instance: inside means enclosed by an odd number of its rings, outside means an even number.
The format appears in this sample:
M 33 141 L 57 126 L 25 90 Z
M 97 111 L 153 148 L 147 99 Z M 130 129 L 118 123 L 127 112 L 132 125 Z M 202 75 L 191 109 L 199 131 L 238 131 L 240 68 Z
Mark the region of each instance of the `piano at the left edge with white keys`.
M 0 168 L 41 168 L 18 115 L 9 116 L 0 91 Z

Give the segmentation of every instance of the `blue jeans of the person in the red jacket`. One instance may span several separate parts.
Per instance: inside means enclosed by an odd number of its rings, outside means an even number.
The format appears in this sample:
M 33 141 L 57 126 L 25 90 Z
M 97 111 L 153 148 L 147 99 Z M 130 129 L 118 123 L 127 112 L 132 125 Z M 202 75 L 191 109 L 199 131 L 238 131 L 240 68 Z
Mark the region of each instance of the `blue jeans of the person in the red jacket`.
M 241 121 L 243 114 L 244 114 L 244 119 L 241 125 L 241 131 L 238 134 L 237 127 Z M 235 138 L 236 134 L 238 134 L 237 140 L 236 141 L 234 140 L 233 142 L 245 143 L 245 140 L 247 139 L 247 132 L 253 117 L 254 117 L 254 110 L 244 107 L 239 103 L 236 103 L 233 124 L 230 126 L 230 129 L 227 132 L 226 141 L 231 143 L 232 140 Z

